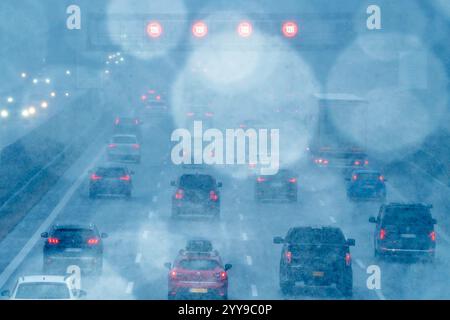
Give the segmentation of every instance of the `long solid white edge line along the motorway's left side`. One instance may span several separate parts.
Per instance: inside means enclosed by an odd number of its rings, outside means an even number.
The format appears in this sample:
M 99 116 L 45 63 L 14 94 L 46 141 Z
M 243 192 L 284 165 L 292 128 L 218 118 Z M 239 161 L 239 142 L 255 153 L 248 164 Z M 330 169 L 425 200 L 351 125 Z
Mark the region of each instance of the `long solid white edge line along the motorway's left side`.
M 8 264 L 8 266 L 3 270 L 0 274 L 0 288 L 3 287 L 11 277 L 11 275 L 16 271 L 16 269 L 20 266 L 25 257 L 30 253 L 31 249 L 36 245 L 36 243 L 41 239 L 41 233 L 47 231 L 56 217 L 59 215 L 61 210 L 67 205 L 67 203 L 72 198 L 75 191 L 80 187 L 83 183 L 84 179 L 86 179 L 86 175 L 88 171 L 95 165 L 98 159 L 102 156 L 104 149 L 102 149 L 97 156 L 89 163 L 89 166 L 85 168 L 83 173 L 77 178 L 77 180 L 72 184 L 72 186 L 67 190 L 65 195 L 56 205 L 56 207 L 52 210 L 50 215 L 45 219 L 45 221 L 39 226 L 36 232 L 31 236 L 31 238 L 27 241 L 25 246 L 19 251 L 19 253 L 14 257 L 14 259 Z

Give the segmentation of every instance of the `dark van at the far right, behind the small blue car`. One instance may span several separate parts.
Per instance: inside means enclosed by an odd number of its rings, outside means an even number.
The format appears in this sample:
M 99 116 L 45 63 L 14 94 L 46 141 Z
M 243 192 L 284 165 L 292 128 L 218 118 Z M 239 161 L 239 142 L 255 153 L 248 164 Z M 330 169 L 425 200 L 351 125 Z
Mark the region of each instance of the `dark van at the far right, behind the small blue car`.
M 433 261 L 436 249 L 436 220 L 431 205 L 390 203 L 382 205 L 375 223 L 375 257 L 420 258 Z

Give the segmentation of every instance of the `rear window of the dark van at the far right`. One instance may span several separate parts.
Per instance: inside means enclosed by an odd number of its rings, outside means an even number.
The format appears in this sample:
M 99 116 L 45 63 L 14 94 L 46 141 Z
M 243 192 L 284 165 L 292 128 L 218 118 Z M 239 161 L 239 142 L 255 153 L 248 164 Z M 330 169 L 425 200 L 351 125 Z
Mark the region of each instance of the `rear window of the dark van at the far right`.
M 432 224 L 429 209 L 426 208 L 387 208 L 384 217 L 384 225 L 424 225 Z

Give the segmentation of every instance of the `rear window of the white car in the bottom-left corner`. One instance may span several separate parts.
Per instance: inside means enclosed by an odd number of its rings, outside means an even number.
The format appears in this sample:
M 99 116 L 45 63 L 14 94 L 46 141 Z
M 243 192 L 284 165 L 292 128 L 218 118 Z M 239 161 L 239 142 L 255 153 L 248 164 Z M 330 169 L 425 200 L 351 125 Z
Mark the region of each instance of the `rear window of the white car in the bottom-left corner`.
M 70 299 L 65 283 L 37 282 L 22 283 L 17 288 L 16 299 Z

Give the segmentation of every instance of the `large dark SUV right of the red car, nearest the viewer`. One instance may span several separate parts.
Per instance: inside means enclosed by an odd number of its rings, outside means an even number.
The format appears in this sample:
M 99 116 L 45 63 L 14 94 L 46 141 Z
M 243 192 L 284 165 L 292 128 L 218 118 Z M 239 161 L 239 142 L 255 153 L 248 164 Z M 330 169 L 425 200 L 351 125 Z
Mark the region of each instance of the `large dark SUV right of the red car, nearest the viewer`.
M 295 227 L 286 237 L 275 237 L 283 244 L 280 260 L 280 288 L 283 294 L 294 292 L 297 282 L 305 286 L 331 286 L 344 297 L 353 294 L 353 271 L 350 246 L 339 228 Z

